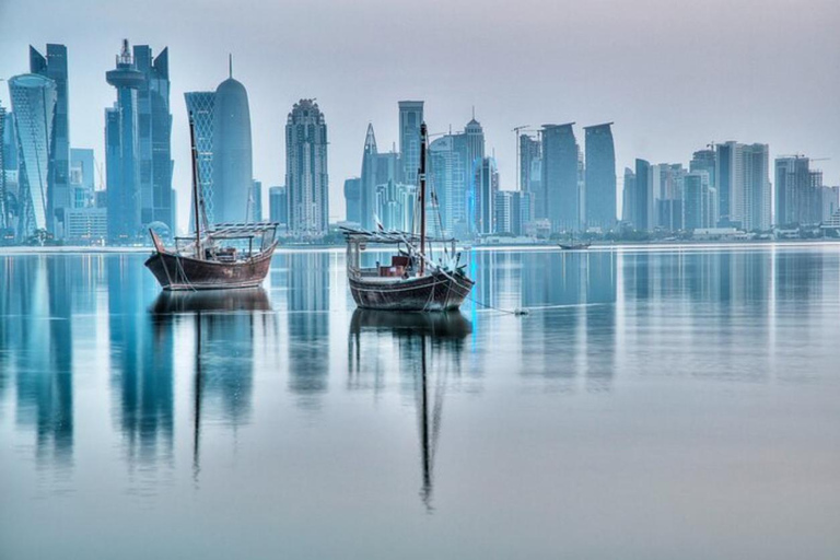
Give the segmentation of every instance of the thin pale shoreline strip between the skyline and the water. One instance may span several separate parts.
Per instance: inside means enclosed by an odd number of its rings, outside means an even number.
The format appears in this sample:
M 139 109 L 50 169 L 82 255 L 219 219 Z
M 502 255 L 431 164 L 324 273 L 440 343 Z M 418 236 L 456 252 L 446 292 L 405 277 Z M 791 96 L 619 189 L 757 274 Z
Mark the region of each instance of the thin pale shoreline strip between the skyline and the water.
M 676 248 L 727 248 L 727 247 L 767 247 L 767 246 L 840 246 L 838 240 L 756 240 L 756 241 L 669 241 L 669 242 L 615 242 L 615 243 L 593 243 L 587 249 L 572 249 L 569 253 L 604 252 L 612 249 L 676 249 Z M 487 244 L 472 245 L 469 249 L 462 250 L 562 250 L 557 243 L 516 243 L 516 244 Z M 281 245 L 277 247 L 277 253 L 307 253 L 307 252 L 332 252 L 343 250 L 345 245 Z M 35 255 L 137 255 L 151 253 L 152 247 L 89 247 L 89 246 L 57 246 L 57 247 L 30 247 L 30 246 L 10 246 L 0 247 L 0 256 L 35 256 Z

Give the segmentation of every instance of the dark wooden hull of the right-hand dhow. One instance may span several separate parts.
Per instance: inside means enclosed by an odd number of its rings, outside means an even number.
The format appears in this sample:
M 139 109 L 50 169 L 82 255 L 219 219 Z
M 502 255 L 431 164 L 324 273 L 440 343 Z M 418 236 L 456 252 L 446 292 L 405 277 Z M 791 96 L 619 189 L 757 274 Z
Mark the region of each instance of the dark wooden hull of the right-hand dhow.
M 363 310 L 448 311 L 460 307 L 474 284 L 465 276 L 435 271 L 421 278 L 393 282 L 350 278 L 350 293 Z

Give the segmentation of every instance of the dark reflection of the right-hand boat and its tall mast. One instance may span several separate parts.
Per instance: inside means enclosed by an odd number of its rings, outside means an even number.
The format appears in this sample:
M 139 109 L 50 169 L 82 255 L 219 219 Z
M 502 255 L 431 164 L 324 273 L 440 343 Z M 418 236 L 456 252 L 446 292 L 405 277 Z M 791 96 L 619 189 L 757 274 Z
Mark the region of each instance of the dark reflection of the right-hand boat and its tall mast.
M 420 498 L 429 513 L 434 511 L 434 457 L 441 433 L 446 382 L 453 370 L 456 375 L 460 373 L 460 354 L 465 339 L 471 332 L 472 324 L 458 312 L 355 310 L 350 323 L 351 376 L 361 373 L 363 348 L 365 352 L 378 353 L 381 337 L 388 334 L 398 345 L 400 373 L 410 375 L 413 382 L 420 429 Z

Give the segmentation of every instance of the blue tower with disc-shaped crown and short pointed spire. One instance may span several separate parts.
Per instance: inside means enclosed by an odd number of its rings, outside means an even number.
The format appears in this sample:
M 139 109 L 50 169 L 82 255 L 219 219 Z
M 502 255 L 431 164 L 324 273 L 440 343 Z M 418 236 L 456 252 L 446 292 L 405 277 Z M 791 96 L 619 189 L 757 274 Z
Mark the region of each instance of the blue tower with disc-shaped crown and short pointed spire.
M 105 161 L 107 165 L 108 237 L 128 243 L 141 234 L 141 192 L 138 166 L 138 91 L 145 88 L 145 74 L 135 66 L 128 47 L 117 55 L 116 69 L 105 74 L 117 90 L 117 102 L 105 109 Z

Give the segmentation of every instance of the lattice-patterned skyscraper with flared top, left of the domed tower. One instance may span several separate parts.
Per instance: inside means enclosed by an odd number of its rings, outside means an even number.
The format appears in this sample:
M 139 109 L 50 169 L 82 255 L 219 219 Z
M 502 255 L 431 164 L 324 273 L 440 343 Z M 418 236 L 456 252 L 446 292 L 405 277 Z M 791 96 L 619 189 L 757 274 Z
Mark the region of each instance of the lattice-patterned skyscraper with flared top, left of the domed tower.
M 215 92 L 186 92 L 187 115 L 192 117 L 196 140 L 198 188 L 205 202 L 205 215 L 211 224 L 215 219 L 215 192 L 213 189 L 213 120 L 215 112 Z M 190 208 L 194 208 L 190 189 Z M 189 212 L 189 231 L 195 231 L 195 213 Z

